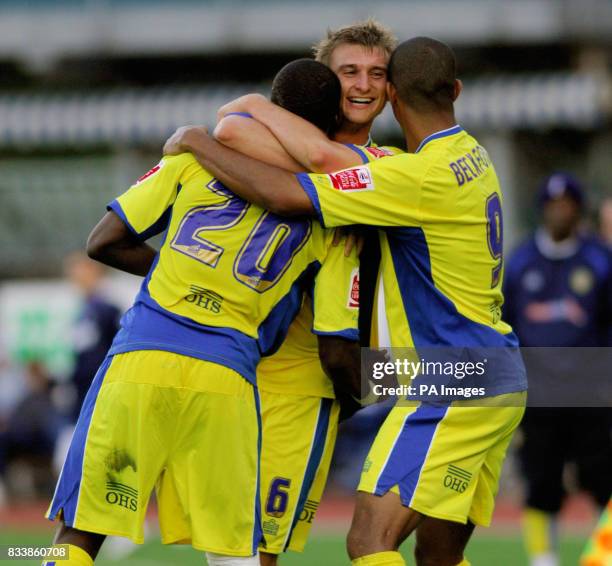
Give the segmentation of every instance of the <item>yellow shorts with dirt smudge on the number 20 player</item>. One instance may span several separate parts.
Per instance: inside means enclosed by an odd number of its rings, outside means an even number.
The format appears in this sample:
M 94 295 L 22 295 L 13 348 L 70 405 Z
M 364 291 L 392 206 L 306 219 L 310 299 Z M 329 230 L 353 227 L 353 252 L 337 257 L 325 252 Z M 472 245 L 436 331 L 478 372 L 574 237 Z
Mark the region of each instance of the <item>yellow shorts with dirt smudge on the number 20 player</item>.
M 165 351 L 110 356 L 83 404 L 47 518 L 142 543 L 155 487 L 164 543 L 254 554 L 259 432 L 257 392 L 235 371 Z

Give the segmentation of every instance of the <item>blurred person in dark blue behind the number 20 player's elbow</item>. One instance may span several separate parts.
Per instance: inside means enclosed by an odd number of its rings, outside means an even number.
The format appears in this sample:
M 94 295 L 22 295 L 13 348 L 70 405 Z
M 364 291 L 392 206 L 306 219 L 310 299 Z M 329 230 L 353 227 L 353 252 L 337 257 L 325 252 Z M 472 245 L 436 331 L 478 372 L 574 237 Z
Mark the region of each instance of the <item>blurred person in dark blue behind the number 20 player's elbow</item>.
M 74 422 L 89 385 L 119 330 L 121 312 L 101 293 L 105 269 L 83 252 L 70 254 L 64 263 L 66 277 L 82 296 L 72 329 L 75 359 L 70 382 L 76 389 L 76 402 L 72 409 Z

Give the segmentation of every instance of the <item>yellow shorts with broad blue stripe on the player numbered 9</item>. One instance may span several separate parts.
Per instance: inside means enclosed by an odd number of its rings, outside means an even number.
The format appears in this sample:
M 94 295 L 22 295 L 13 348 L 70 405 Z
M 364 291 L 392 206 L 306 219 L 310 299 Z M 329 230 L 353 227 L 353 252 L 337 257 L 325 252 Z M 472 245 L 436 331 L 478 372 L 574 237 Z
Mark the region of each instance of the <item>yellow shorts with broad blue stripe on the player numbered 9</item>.
M 429 517 L 488 526 L 526 393 L 450 406 L 396 405 L 366 458 L 359 491 L 394 491 Z

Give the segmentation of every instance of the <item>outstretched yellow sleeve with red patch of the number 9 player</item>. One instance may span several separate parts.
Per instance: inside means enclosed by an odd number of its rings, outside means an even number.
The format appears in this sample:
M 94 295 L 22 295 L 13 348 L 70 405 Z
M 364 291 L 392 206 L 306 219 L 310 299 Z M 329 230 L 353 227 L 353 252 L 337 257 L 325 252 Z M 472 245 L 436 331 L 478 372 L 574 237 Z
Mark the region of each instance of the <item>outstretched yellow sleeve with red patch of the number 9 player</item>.
M 330 174 L 299 173 L 297 179 L 327 228 L 418 226 L 428 163 L 414 157 L 393 155 Z

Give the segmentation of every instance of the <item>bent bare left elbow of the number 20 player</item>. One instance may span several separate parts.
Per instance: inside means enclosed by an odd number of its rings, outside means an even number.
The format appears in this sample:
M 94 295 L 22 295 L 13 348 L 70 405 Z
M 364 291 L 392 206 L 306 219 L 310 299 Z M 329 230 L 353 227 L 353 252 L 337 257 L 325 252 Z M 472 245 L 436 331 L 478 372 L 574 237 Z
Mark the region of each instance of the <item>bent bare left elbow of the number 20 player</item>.
M 112 211 L 102 217 L 87 239 L 87 255 L 91 259 L 133 275 L 144 277 L 156 254 Z

